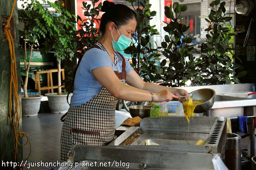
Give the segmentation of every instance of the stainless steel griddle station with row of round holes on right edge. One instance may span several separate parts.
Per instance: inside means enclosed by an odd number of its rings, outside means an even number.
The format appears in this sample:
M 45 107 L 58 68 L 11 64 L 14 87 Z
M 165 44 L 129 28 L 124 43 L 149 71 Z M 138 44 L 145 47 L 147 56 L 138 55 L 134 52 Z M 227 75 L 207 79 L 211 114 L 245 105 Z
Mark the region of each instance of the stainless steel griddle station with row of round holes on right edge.
M 189 132 L 185 117 L 144 118 L 140 127 L 130 127 L 108 146 L 75 146 L 72 161 L 121 160 L 145 169 L 214 169 L 209 151 L 223 160 L 226 129 L 226 118 L 194 117 Z M 204 146 L 194 145 L 199 139 L 206 141 Z M 145 145 L 146 140 L 159 145 Z

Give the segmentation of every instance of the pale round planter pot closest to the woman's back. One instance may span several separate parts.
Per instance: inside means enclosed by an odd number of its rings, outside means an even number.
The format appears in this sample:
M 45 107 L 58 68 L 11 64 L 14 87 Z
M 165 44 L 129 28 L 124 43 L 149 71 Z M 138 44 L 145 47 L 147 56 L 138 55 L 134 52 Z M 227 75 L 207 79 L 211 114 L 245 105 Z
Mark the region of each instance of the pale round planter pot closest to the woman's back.
M 71 96 L 70 93 L 68 101 L 70 103 Z M 45 94 L 48 98 L 49 108 L 52 113 L 66 113 L 69 109 L 69 104 L 67 102 L 67 95 L 57 95 L 57 93 L 47 93 Z

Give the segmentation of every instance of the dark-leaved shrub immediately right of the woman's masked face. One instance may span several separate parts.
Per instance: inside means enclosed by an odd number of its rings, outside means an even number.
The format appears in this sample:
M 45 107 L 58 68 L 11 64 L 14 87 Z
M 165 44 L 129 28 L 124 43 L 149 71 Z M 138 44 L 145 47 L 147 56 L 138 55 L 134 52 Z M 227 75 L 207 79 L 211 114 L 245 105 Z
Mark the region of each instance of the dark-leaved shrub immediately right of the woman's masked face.
M 154 35 L 159 35 L 155 25 L 151 26 L 149 21 L 156 15 L 156 11 L 151 11 L 151 4 L 147 0 L 125 0 L 131 3 L 136 11 L 138 22 L 136 31 L 132 36 L 132 44 L 124 50 L 131 57 L 131 66 L 137 74 L 146 82 L 158 82 L 160 80 L 161 68 L 156 65 L 160 54 L 158 49 L 153 48 L 155 42 L 151 41 Z M 135 9 L 134 2 L 139 6 Z M 141 8 L 140 8 L 141 7 Z

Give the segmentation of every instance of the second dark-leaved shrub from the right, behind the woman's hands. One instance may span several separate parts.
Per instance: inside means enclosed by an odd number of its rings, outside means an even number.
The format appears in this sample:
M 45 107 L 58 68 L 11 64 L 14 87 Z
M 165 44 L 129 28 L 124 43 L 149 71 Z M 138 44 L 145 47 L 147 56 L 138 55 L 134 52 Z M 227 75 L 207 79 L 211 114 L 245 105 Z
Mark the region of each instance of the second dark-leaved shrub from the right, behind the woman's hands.
M 172 10 L 173 8 L 173 10 Z M 165 42 L 162 42 L 164 48 L 163 55 L 169 59 L 170 63 L 166 66 L 166 59 L 161 62 L 161 79 L 164 86 L 178 87 L 185 86 L 186 81 L 194 84 L 198 81 L 198 75 L 202 74 L 198 64 L 202 61 L 200 58 L 195 59 L 193 52 L 198 53 L 194 45 L 189 45 L 192 39 L 185 32 L 189 26 L 180 23 L 182 12 L 187 10 L 186 5 L 173 3 L 173 6 L 165 6 L 165 16 L 171 21 L 166 23 L 164 30 L 168 33 L 165 35 Z M 195 78 L 196 77 L 196 78 Z

